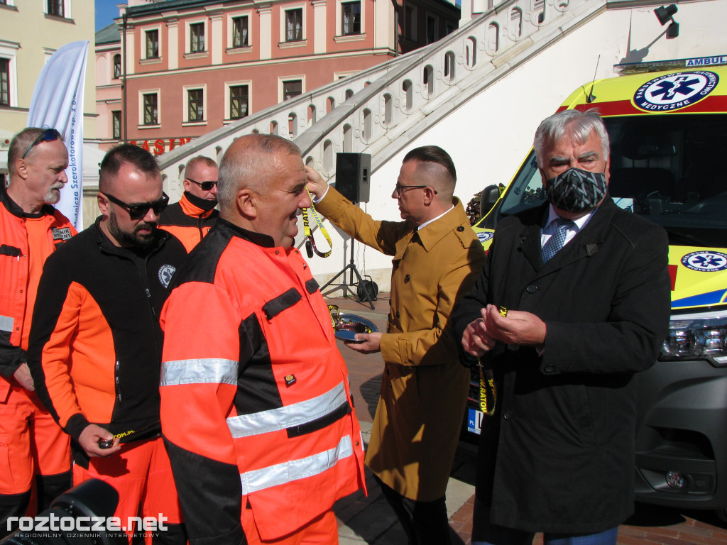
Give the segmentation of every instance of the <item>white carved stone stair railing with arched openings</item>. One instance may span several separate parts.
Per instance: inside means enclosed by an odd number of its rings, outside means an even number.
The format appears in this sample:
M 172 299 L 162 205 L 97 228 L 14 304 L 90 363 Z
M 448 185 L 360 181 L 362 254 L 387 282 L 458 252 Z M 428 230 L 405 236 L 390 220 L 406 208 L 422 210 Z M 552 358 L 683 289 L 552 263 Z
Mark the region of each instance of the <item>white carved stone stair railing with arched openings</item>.
M 165 153 L 170 195 L 191 156 L 218 160 L 243 134 L 291 138 L 326 179 L 337 152 L 371 154 L 376 171 L 452 110 L 606 9 L 606 0 L 505 0 L 454 33 L 407 55 L 217 129 Z

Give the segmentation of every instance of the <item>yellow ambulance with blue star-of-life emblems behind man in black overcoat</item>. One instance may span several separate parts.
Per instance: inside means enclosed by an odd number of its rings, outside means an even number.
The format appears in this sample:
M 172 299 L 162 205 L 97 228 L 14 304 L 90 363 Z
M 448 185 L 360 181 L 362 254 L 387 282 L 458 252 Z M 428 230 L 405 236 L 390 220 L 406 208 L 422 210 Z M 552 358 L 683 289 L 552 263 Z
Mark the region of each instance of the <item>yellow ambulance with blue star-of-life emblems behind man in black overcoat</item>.
M 688 509 L 727 507 L 727 56 L 621 65 L 560 110 L 597 108 L 611 140 L 608 191 L 669 235 L 672 318 L 662 352 L 638 375 L 636 498 Z M 662 69 L 662 71 L 653 71 Z M 502 194 L 500 194 L 502 193 Z M 475 225 L 545 201 L 534 153 L 505 188 L 483 197 Z M 481 427 L 473 381 L 467 432 Z M 725 519 L 727 520 L 727 519 Z

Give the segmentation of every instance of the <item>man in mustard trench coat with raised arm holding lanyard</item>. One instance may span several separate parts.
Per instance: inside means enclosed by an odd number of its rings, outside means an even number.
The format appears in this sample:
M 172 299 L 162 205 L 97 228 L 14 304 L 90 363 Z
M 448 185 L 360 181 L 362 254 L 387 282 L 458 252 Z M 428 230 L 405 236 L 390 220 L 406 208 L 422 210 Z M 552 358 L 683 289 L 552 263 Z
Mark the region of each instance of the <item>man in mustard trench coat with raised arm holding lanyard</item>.
M 366 465 L 401 521 L 409 545 L 451 543 L 444 492 L 467 399 L 449 314 L 485 261 L 459 199 L 457 173 L 437 146 L 411 150 L 392 193 L 403 222 L 374 221 L 310 167 L 316 209 L 337 227 L 393 256 L 386 333 L 347 343 L 382 353 L 381 397 Z

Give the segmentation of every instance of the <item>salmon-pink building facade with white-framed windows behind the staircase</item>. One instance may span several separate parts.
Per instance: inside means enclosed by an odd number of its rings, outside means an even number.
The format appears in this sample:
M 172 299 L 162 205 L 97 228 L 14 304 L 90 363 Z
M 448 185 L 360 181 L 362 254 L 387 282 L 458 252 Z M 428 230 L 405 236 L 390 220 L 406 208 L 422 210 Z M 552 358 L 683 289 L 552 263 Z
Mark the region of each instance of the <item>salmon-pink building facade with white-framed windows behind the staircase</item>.
M 448 0 L 397 1 L 129 0 L 97 33 L 102 147 L 161 155 L 457 28 Z

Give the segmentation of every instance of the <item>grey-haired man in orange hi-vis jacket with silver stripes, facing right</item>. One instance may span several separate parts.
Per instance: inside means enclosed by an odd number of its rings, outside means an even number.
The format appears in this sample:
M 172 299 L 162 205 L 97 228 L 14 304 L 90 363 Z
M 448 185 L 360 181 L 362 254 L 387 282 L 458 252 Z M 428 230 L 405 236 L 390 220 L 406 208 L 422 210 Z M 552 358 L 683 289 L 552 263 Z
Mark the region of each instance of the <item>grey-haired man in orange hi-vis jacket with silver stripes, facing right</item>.
M 292 142 L 233 142 L 220 218 L 161 314 L 161 426 L 191 545 L 337 544 L 334 501 L 364 487 L 348 371 L 293 244 L 305 184 Z

